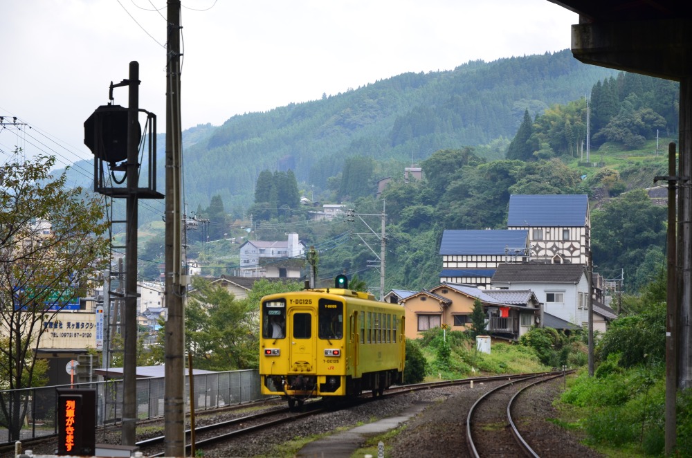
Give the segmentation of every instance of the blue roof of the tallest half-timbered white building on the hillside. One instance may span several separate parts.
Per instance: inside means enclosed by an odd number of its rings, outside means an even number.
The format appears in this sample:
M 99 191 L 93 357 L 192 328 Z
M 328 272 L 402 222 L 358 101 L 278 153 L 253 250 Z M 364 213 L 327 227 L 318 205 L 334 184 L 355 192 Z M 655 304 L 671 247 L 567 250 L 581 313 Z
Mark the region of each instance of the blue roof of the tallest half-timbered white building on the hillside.
M 589 211 L 586 194 L 512 194 L 509 196 L 507 226 L 585 226 Z

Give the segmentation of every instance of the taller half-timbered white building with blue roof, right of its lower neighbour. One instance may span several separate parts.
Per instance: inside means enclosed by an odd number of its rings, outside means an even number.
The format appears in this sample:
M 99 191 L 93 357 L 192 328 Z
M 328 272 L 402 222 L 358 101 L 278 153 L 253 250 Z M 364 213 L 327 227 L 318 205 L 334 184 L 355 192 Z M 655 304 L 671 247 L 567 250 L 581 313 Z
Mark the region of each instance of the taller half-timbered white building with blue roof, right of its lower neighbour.
M 532 259 L 588 262 L 591 217 L 586 194 L 512 194 L 507 228 L 528 231 Z

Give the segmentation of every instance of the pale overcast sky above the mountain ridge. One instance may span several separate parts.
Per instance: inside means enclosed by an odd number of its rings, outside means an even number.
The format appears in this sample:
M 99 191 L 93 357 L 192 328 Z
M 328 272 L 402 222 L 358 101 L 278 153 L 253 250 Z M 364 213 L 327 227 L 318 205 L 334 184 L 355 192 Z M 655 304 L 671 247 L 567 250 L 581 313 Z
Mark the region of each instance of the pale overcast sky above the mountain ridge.
M 165 130 L 165 0 L 0 0 L 0 163 L 15 145 L 91 158 L 83 123 L 140 65 Z M 183 0 L 183 129 L 316 100 L 405 72 L 570 48 L 579 17 L 547 0 Z M 127 89 L 114 90 L 127 106 Z M 8 122 L 5 118 L 4 122 Z M 10 120 L 11 122 L 11 120 Z M 28 129 L 31 127 L 31 129 Z

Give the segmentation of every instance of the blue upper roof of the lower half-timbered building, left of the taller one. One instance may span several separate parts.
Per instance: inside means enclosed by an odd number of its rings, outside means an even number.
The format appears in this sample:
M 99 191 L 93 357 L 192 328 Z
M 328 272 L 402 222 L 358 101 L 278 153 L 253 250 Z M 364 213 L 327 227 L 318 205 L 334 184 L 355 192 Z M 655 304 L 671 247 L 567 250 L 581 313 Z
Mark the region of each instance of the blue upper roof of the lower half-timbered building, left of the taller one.
M 528 230 L 445 229 L 440 255 L 504 255 L 505 248 L 527 246 Z

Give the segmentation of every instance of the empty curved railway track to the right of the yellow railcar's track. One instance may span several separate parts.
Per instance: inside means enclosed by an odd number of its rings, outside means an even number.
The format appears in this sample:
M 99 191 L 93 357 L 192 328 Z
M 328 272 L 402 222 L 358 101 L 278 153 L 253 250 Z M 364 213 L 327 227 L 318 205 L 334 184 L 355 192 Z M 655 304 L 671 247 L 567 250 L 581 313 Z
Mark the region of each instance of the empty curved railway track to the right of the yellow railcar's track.
M 564 372 L 553 372 L 520 376 L 480 396 L 466 416 L 466 444 L 470 455 L 475 458 L 521 455 L 538 458 L 512 418 L 513 403 L 523 390 L 564 375 Z

